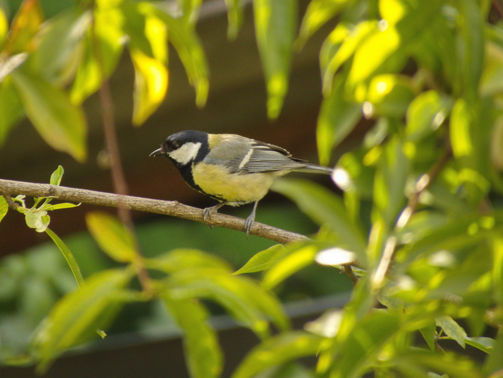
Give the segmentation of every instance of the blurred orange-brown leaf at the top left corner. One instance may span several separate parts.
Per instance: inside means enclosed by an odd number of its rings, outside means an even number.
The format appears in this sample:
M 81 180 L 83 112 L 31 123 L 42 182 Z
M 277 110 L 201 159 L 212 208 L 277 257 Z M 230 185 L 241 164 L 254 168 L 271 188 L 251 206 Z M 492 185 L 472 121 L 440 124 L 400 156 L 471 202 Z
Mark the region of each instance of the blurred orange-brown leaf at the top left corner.
M 12 21 L 5 50 L 10 55 L 33 51 L 36 47 L 34 37 L 43 21 L 38 0 L 24 0 Z

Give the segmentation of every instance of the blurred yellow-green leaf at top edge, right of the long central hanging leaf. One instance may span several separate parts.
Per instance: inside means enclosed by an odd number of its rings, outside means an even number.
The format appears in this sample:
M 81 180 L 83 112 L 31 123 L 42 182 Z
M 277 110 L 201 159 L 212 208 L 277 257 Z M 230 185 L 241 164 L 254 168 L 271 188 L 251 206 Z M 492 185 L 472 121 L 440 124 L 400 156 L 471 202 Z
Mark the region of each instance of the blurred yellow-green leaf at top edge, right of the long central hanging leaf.
M 337 16 L 350 3 L 350 0 L 312 0 L 304 13 L 296 45 L 304 46 L 316 30 Z

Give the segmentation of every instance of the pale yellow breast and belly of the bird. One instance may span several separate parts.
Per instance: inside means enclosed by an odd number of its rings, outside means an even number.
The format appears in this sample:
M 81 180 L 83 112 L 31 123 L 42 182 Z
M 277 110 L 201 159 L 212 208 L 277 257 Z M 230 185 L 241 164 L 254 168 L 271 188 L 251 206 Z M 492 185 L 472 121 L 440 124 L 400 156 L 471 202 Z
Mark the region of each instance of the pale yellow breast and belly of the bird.
M 194 182 L 207 194 L 228 202 L 247 203 L 262 199 L 274 179 L 289 171 L 229 174 L 222 166 L 198 163 L 193 166 Z M 232 203 L 230 203 L 232 205 Z

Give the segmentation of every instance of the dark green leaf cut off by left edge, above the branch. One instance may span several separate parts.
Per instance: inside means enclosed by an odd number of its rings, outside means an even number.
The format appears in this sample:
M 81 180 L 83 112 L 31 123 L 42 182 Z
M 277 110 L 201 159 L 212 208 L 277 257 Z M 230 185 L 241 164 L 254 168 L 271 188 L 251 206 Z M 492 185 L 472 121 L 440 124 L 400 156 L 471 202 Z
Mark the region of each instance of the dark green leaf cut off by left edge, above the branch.
M 23 115 L 23 104 L 8 76 L 0 82 L 0 146 Z

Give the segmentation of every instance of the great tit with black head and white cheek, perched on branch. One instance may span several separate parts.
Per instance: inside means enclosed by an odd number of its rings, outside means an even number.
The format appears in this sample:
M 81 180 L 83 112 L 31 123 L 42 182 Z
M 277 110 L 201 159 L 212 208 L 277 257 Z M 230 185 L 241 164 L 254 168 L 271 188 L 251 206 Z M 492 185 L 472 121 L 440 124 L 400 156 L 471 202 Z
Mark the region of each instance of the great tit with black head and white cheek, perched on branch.
M 169 158 L 191 188 L 220 201 L 204 209 L 204 221 L 223 205 L 254 202 L 244 223 L 246 235 L 253 226 L 259 200 L 276 178 L 292 171 L 332 173 L 331 168 L 292 158 L 286 149 L 274 144 L 196 130 L 168 136 L 150 156 Z

